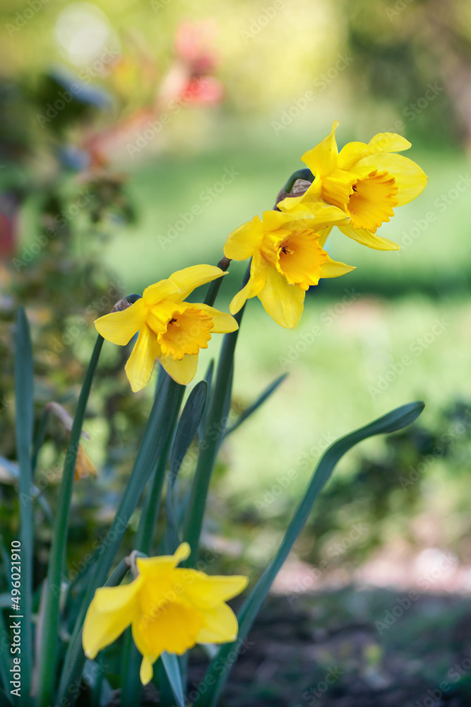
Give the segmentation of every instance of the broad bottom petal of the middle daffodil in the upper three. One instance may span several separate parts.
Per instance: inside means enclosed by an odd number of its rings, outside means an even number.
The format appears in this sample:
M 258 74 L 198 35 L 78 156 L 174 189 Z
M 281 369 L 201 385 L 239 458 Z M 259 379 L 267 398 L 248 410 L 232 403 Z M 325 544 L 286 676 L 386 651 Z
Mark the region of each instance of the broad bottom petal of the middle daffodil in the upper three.
M 294 329 L 302 315 L 305 295 L 305 290 L 289 285 L 282 274 L 268 267 L 266 284 L 258 298 L 275 322 L 287 329 Z

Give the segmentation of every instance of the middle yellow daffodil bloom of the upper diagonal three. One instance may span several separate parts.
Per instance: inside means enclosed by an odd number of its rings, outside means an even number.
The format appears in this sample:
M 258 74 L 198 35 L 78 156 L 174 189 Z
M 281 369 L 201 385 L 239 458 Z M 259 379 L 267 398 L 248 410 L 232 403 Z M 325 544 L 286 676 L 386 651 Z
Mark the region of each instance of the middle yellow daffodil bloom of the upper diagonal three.
M 234 260 L 252 258 L 250 279 L 232 299 L 229 311 L 239 312 L 257 296 L 266 312 L 282 327 L 294 329 L 304 308 L 304 296 L 321 277 L 338 277 L 354 268 L 330 259 L 323 245 L 333 223 L 348 217 L 335 206 L 312 204 L 296 213 L 264 211 L 227 238 L 224 255 Z

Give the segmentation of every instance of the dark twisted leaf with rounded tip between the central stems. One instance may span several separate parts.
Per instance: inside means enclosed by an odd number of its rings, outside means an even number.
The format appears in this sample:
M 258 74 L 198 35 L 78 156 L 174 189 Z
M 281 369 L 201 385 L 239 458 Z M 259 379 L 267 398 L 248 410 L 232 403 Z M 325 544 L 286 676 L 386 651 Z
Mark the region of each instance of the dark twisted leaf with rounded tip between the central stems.
M 203 417 L 206 398 L 208 397 L 208 383 L 201 380 L 195 385 L 186 401 L 183 412 L 175 433 L 172 456 L 170 458 L 170 474 L 167 483 L 167 552 L 173 554 L 179 546 L 179 532 L 174 511 L 173 491 L 177 474 L 193 441 L 198 425 Z

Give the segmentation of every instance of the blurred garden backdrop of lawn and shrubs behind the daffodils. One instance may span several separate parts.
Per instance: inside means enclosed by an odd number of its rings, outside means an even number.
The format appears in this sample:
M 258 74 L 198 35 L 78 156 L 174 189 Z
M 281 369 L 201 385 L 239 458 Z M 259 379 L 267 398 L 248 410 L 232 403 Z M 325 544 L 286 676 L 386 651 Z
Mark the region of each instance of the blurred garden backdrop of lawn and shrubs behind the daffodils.
M 310 562 L 330 557 L 352 523 L 364 522 L 368 532 L 333 563 L 348 576 L 372 567 L 369 579 L 388 583 L 400 566 L 407 583 L 429 548 L 451 550 L 467 566 L 469 2 L 5 0 L 0 16 L 4 458 L 15 454 L 19 303 L 33 327 L 38 416 L 51 399 L 73 411 L 93 319 L 176 269 L 215 264 L 227 234 L 273 206 L 334 119 L 340 146 L 398 132 L 429 175 L 424 193 L 381 228 L 403 250 L 369 250 L 334 232 L 330 255 L 357 269 L 314 288 L 294 331 L 249 303 L 234 419 L 289 375 L 222 448 L 205 540 L 264 563 L 326 446 L 424 399 L 418 426 L 370 440 L 342 462 L 297 552 Z M 230 268 L 221 308 L 243 271 Z M 201 355 L 201 376 L 219 345 L 214 339 Z M 131 395 L 124 361 L 126 351 L 105 345 L 87 421 L 98 479 L 77 491 L 77 539 L 107 522 L 150 406 L 153 386 Z M 59 426 L 48 434 L 40 474 L 64 452 Z M 15 502 L 5 467 L 2 478 L 7 524 Z M 42 561 L 48 537 L 44 530 Z M 469 579 L 454 581 L 469 589 Z

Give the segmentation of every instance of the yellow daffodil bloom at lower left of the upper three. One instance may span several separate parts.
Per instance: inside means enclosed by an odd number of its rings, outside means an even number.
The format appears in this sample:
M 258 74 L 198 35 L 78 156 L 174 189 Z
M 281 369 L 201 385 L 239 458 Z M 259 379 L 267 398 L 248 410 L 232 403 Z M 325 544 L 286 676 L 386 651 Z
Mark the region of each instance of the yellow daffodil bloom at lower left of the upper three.
M 211 334 L 237 329 L 234 317 L 226 312 L 184 302 L 196 287 L 225 274 L 212 265 L 187 267 L 145 288 L 142 298 L 128 308 L 95 321 L 97 332 L 113 344 L 125 346 L 139 332 L 126 363 L 134 392 L 147 385 L 156 358 L 177 383 L 186 385 L 193 380 L 199 350 L 208 348 Z

